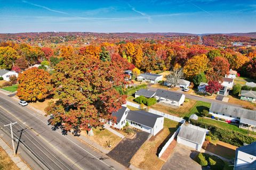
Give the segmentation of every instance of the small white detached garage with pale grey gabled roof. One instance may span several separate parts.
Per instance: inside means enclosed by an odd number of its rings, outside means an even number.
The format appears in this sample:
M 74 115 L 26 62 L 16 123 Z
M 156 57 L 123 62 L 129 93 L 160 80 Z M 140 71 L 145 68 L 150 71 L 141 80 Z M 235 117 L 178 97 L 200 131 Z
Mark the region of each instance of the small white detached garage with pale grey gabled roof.
M 200 151 L 205 140 L 205 135 L 206 132 L 190 128 L 186 124 L 183 124 L 180 126 L 177 142 Z

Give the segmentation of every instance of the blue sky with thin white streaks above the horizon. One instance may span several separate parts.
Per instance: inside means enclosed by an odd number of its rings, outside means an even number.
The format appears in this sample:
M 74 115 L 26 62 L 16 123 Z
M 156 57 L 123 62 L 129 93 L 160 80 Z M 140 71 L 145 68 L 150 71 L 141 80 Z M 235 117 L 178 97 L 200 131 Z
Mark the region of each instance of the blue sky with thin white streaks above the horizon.
M 0 0 L 0 32 L 256 31 L 256 1 Z

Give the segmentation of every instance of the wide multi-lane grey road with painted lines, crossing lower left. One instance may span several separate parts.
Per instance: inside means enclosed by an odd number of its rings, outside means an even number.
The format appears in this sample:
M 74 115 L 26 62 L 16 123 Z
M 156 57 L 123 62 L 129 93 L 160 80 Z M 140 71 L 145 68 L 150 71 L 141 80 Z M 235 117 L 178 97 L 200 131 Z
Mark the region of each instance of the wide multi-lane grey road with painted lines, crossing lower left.
M 13 132 L 21 141 L 18 152 L 22 152 L 21 157 L 28 163 L 31 162 L 29 157 L 37 155 L 37 160 L 42 159 L 38 162 L 44 163 L 40 169 L 125 169 L 123 165 L 82 143 L 73 135 L 62 135 L 59 130 L 53 131 L 47 125 L 47 120 L 47 117 L 0 94 L 0 126 L 3 128 L 4 124 L 18 122 L 13 125 Z M 22 124 L 23 122 L 26 124 Z M 7 127 L 3 130 L 10 132 Z M 23 154 L 24 146 L 29 147 L 31 155 Z M 33 169 L 39 167 L 31 166 Z

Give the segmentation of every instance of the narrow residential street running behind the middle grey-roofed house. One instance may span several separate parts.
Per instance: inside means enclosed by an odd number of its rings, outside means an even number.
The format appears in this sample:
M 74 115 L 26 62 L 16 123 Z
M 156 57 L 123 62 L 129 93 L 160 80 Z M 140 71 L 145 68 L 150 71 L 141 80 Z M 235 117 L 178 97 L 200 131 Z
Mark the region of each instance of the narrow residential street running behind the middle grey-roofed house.
M 157 89 L 161 89 L 161 88 L 154 88 L 154 87 L 148 86 L 148 89 L 156 91 Z M 165 90 L 165 89 L 163 89 L 163 90 Z M 208 102 L 208 103 L 221 103 L 221 104 L 225 104 L 225 105 L 232 105 L 232 106 L 241 107 L 241 105 L 227 103 L 225 101 L 214 100 L 214 99 L 209 99 L 209 98 L 205 98 L 205 97 L 201 97 L 201 96 L 190 95 L 185 91 L 176 91 L 176 90 L 170 90 L 170 91 L 178 92 L 179 94 L 184 94 L 186 96 L 186 98 L 188 98 L 188 99 L 201 100 L 201 101 L 205 101 L 205 102 Z

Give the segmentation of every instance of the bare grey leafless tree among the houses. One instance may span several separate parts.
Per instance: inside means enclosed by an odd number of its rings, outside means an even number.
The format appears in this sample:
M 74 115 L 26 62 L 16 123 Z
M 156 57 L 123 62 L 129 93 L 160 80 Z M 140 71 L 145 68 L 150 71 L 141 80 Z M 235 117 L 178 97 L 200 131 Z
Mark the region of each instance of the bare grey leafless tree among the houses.
M 173 69 L 171 70 L 171 73 L 167 75 L 166 82 L 170 84 L 171 87 L 175 87 L 178 84 L 178 80 L 183 78 L 183 69 Z

